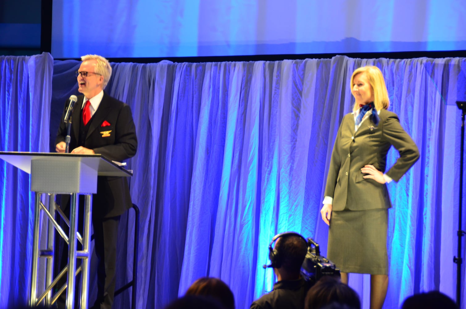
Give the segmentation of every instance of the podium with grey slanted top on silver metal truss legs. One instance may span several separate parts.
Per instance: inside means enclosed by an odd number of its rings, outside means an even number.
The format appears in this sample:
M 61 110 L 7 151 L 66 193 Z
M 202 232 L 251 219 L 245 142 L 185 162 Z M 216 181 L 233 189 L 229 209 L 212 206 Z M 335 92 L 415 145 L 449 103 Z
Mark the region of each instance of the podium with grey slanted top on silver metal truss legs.
M 30 282 L 29 306 L 35 307 L 41 302 L 50 306 L 67 288 L 66 307 L 74 308 L 75 275 L 82 273 L 81 280 L 81 308 L 88 307 L 89 295 L 89 264 L 91 252 L 90 218 L 92 214 L 92 194 L 97 192 L 97 176 L 132 176 L 132 171 L 126 170 L 102 155 L 75 155 L 56 153 L 31 152 L 0 152 L 0 158 L 14 165 L 18 169 L 31 174 L 31 191 L 35 192 L 34 204 L 34 240 Z M 46 194 L 45 205 L 41 202 L 42 194 Z M 55 194 L 70 194 L 69 235 L 63 232 L 55 221 Z M 77 232 L 78 195 L 84 195 L 84 229 L 83 235 Z M 40 211 L 48 217 L 47 220 L 47 248 L 39 249 Z M 68 266 L 53 278 L 53 256 L 55 229 L 68 243 Z M 77 241 L 82 243 L 82 250 L 76 250 Z M 38 260 L 47 258 L 45 291 L 37 296 Z M 76 259 L 81 259 L 81 266 L 76 269 Z M 64 285 L 55 295 L 52 288 L 58 280 L 67 274 L 67 285 Z

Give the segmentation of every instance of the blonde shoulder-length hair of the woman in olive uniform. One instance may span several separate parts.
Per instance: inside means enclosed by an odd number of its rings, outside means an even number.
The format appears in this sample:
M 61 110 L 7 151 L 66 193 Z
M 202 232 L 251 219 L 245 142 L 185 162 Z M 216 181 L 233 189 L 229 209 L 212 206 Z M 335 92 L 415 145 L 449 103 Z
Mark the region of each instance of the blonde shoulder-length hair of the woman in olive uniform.
M 374 91 L 374 105 L 376 106 L 376 110 L 379 111 L 382 108 L 387 109 L 390 105 L 390 100 L 388 98 L 387 86 L 385 85 L 382 71 L 373 65 L 356 69 L 353 75 L 351 75 L 351 89 L 354 87 L 354 77 L 359 73 L 366 73 L 367 80 L 372 87 L 372 91 Z M 357 109 L 359 109 L 359 105 L 355 103 L 353 111 Z

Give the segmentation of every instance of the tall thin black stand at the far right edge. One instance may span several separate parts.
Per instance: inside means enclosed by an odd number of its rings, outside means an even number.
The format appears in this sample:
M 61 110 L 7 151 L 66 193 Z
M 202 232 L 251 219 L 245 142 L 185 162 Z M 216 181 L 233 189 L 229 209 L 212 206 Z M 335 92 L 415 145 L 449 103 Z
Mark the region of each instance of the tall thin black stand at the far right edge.
M 465 140 L 465 115 L 466 115 L 466 101 L 456 101 L 456 105 L 461 110 L 461 143 L 459 150 L 459 207 L 458 207 L 458 257 L 453 256 L 453 262 L 456 263 L 456 304 L 458 307 L 461 305 L 461 240 L 466 232 L 461 230 L 462 213 L 463 213 L 463 156 L 464 156 L 464 140 Z

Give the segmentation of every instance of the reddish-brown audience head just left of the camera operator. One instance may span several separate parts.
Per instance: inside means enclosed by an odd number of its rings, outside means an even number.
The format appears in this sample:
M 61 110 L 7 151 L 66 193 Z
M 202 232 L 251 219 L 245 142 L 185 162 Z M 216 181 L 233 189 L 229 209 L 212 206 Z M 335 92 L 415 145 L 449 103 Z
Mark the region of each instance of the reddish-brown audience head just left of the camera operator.
M 225 282 L 218 278 L 203 277 L 191 285 L 186 295 L 201 295 L 212 297 L 219 301 L 225 309 L 234 309 L 233 292 Z

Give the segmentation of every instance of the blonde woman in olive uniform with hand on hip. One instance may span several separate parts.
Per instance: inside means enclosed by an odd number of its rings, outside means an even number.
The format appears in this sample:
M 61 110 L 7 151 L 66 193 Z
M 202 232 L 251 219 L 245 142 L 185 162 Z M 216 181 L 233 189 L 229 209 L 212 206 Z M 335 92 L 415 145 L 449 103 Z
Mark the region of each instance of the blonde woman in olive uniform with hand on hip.
M 351 76 L 356 102 L 336 135 L 322 219 L 329 225 L 327 256 L 348 283 L 349 273 L 370 274 L 370 308 L 382 308 L 388 288 L 387 226 L 391 208 L 386 183 L 398 181 L 418 160 L 418 147 L 387 110 L 382 72 L 361 67 Z M 399 152 L 387 169 L 387 152 Z

